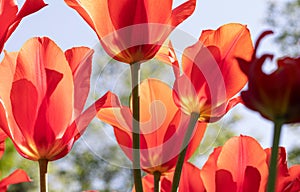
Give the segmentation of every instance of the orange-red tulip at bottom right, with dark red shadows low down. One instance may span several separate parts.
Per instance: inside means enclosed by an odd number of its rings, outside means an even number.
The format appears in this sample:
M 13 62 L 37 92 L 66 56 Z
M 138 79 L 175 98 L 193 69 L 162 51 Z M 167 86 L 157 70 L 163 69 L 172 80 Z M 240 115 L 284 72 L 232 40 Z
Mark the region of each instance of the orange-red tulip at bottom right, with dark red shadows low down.
M 255 139 L 233 137 L 216 148 L 203 166 L 204 187 L 208 192 L 263 192 L 268 176 L 266 159 Z

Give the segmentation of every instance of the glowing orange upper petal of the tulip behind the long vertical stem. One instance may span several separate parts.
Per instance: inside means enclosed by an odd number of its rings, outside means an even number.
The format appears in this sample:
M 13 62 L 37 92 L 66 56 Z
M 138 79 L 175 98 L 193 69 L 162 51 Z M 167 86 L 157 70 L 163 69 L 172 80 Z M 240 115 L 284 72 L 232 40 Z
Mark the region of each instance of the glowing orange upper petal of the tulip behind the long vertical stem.
M 172 89 L 162 81 L 147 79 L 140 84 L 140 98 L 141 133 L 154 133 L 151 139 L 147 139 L 148 147 L 157 146 L 163 143 L 167 128 L 178 110 L 172 99 Z

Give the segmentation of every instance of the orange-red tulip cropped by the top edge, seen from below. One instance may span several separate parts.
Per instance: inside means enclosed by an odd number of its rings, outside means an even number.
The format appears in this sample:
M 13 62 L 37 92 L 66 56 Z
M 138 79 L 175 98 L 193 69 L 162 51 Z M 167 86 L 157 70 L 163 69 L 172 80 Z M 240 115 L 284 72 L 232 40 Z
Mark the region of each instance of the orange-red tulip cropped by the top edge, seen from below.
M 170 32 L 196 6 L 188 0 L 172 10 L 172 0 L 65 0 L 75 9 L 114 59 L 133 64 L 151 59 Z

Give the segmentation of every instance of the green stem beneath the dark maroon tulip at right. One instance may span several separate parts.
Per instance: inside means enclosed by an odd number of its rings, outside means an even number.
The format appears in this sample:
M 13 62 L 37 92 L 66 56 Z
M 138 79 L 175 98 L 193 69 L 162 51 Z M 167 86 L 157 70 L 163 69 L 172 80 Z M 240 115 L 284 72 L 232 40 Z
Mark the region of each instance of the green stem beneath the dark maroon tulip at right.
M 279 146 L 282 125 L 283 125 L 282 121 L 274 122 L 273 146 L 271 150 L 271 162 L 269 168 L 269 179 L 268 179 L 268 188 L 267 188 L 268 192 L 274 192 L 276 187 L 277 156 L 278 156 L 278 146 Z

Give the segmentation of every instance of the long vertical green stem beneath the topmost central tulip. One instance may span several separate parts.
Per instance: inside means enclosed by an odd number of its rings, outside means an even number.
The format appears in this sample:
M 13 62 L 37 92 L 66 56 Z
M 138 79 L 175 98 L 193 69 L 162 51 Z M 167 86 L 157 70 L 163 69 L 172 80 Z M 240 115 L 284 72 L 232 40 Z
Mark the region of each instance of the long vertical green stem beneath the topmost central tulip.
M 140 169 L 140 63 L 130 65 L 132 87 L 132 166 L 136 192 L 143 192 L 142 175 Z

